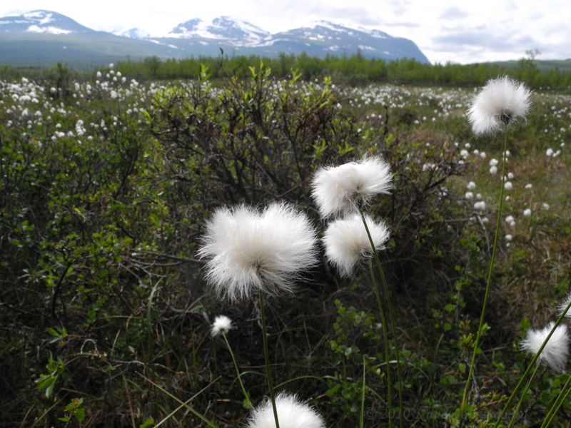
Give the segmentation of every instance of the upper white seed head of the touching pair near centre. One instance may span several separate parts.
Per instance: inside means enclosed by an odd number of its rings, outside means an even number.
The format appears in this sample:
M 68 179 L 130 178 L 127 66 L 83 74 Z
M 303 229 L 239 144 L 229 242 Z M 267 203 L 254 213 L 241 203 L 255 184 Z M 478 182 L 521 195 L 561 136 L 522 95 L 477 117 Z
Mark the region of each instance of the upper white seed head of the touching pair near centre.
M 379 156 L 339 166 L 320 168 L 311 186 L 311 195 L 321 217 L 356 210 L 378 193 L 389 193 L 393 176 L 390 166 Z

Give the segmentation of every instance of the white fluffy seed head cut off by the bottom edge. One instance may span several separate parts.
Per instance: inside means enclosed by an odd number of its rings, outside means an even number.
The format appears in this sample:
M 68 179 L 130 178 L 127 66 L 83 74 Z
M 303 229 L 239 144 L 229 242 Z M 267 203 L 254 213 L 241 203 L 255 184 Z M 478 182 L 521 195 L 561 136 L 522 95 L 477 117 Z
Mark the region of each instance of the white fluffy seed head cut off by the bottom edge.
M 325 428 L 325 422 L 318 412 L 300 402 L 295 395 L 280 393 L 276 396 L 276 408 L 280 428 Z M 246 428 L 275 428 L 273 408 L 270 399 L 266 399 L 253 409 Z

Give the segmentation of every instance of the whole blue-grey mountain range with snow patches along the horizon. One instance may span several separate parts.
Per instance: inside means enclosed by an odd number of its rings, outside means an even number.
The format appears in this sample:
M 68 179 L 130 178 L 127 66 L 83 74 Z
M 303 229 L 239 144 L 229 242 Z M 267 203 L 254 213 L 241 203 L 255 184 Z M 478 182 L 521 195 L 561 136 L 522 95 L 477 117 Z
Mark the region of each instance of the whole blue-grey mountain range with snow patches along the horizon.
M 211 22 L 196 18 L 175 26 L 162 37 L 141 29 L 120 34 L 95 31 L 54 11 L 37 10 L 0 18 L 0 63 L 43 66 L 61 61 L 84 68 L 108 61 L 146 56 L 187 58 L 218 56 L 301 54 L 323 57 L 353 55 L 394 61 L 428 59 L 413 41 L 378 30 L 350 29 L 328 21 L 271 34 L 246 21 L 220 16 Z

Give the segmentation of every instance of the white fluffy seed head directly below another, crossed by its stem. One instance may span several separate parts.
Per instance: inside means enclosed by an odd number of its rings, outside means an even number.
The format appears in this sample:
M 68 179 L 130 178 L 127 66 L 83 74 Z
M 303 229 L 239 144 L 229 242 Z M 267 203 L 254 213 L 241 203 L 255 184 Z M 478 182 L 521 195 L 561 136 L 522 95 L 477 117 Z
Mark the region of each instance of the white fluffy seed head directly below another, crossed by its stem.
M 375 222 L 368 215 L 365 220 L 376 250 L 383 250 L 389 238 L 389 230 L 383 221 Z M 357 263 L 373 255 L 370 241 L 360 214 L 331 222 L 323 236 L 325 257 L 339 270 L 341 276 L 349 277 Z

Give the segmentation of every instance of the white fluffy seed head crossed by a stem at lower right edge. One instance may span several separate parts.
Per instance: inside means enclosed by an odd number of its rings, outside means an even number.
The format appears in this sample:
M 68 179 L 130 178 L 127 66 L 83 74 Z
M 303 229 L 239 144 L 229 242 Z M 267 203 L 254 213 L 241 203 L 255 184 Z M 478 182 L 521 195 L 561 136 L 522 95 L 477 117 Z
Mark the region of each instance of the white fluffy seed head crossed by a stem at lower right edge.
M 542 330 L 528 330 L 525 340 L 522 342 L 522 350 L 535 355 L 540 350 L 545 339 L 547 339 L 547 335 L 549 335 L 553 325 L 555 325 L 555 322 L 550 322 Z M 555 372 L 562 372 L 565 369 L 568 356 L 569 333 L 565 325 L 558 325 L 537 361 L 545 362 Z

